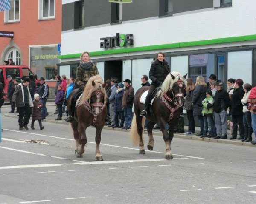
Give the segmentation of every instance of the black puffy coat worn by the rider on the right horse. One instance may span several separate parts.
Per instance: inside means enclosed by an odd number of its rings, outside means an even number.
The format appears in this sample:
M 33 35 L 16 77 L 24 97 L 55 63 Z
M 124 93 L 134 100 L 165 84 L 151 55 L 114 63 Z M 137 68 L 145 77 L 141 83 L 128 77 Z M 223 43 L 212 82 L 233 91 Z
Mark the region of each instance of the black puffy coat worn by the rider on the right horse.
M 166 66 L 167 70 L 164 68 L 164 65 Z M 170 74 L 170 66 L 169 64 L 164 61 L 160 62 L 155 60 L 152 62 L 150 70 L 149 70 L 149 79 L 152 80 L 151 85 L 160 86 L 162 85 L 164 79 L 166 76 Z

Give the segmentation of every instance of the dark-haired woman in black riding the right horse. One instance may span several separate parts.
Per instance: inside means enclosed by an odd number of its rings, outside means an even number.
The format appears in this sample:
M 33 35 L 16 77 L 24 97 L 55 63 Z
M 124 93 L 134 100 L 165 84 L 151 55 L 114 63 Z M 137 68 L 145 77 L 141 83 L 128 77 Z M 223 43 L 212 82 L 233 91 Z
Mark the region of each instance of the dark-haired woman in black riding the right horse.
M 157 53 L 157 59 L 151 64 L 151 68 L 149 70 L 149 79 L 151 79 L 152 82 L 148 90 L 148 95 L 146 96 L 145 109 L 141 111 L 140 116 L 145 117 L 147 115 L 151 94 L 157 87 L 162 85 L 164 79 L 170 73 L 170 66 L 164 57 L 165 55 L 163 52 Z

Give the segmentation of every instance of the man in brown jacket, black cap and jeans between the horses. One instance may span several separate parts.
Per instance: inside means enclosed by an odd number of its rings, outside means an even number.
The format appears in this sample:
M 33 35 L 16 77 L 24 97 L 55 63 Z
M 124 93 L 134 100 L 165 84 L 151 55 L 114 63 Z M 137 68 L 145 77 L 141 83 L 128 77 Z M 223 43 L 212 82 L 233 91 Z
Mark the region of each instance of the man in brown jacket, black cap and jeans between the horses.
M 130 129 L 132 121 L 132 106 L 134 99 L 134 88 L 131 86 L 131 80 L 125 79 L 125 92 L 122 98 L 122 107 L 125 112 L 125 126 L 122 129 Z

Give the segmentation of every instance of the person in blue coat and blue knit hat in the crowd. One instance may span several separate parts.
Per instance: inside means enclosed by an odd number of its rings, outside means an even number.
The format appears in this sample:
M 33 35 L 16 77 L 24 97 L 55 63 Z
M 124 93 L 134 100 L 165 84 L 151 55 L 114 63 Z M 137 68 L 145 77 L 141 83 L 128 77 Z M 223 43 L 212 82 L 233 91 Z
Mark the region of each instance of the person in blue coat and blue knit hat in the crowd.
M 115 102 L 114 102 L 114 112 L 115 114 L 115 125 L 112 128 L 121 128 L 124 126 L 125 122 L 125 112 L 122 111 L 122 97 L 124 95 L 124 84 L 119 83 L 117 85 L 116 95 L 115 95 Z M 121 116 L 121 122 L 119 125 L 119 116 Z

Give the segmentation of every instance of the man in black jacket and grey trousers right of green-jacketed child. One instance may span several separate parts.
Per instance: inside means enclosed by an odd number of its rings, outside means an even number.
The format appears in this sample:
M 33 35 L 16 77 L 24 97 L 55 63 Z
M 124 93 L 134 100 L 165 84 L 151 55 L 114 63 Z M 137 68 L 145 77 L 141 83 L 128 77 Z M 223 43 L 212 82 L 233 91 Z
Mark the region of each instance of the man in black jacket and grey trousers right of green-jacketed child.
M 227 139 L 227 108 L 230 105 L 230 99 L 222 85 L 221 80 L 215 82 L 217 91 L 214 96 L 213 110 L 217 136 L 214 139 Z

